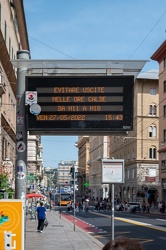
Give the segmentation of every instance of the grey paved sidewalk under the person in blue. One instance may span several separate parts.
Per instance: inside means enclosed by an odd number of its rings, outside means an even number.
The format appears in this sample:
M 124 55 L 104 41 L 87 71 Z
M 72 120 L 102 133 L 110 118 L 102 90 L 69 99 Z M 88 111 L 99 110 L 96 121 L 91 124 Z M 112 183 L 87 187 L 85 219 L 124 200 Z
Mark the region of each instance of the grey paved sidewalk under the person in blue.
M 26 220 L 26 250 L 101 250 L 103 244 L 94 237 L 60 217 L 54 210 L 47 211 L 49 225 L 43 233 L 37 232 L 37 220 Z

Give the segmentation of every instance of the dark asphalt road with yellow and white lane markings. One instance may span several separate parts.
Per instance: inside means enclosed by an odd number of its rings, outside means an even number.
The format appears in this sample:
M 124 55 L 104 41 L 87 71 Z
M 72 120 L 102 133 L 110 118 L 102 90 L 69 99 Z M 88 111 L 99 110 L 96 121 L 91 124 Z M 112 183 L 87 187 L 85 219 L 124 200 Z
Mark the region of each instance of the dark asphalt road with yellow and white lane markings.
M 65 208 L 62 209 L 65 211 Z M 70 212 L 72 215 L 73 212 Z M 90 234 L 106 244 L 111 239 L 111 212 L 95 211 L 76 212 L 79 218 L 93 228 Z M 90 228 L 89 226 L 89 228 Z M 145 250 L 166 249 L 166 217 L 160 215 L 138 215 L 126 212 L 115 212 L 114 235 L 127 236 L 139 240 Z

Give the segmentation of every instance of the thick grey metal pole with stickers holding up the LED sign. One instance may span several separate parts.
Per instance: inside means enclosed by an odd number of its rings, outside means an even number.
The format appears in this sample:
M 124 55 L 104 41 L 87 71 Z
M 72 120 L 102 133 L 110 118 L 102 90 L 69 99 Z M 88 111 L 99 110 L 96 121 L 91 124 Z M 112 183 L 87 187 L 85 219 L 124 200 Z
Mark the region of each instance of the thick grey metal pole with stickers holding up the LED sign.
M 29 59 L 27 50 L 17 51 L 18 59 Z M 17 69 L 17 114 L 16 114 L 16 155 L 15 197 L 26 199 L 27 128 L 25 117 L 25 75 L 27 69 Z

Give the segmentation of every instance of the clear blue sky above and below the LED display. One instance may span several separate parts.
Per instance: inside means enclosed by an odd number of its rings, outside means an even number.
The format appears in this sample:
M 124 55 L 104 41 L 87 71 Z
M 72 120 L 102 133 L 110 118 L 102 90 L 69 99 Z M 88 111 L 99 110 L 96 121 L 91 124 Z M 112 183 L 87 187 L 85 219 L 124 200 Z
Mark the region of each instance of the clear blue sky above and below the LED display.
M 149 60 L 166 39 L 165 0 L 24 0 L 32 59 Z M 42 137 L 45 167 L 77 160 L 76 136 Z

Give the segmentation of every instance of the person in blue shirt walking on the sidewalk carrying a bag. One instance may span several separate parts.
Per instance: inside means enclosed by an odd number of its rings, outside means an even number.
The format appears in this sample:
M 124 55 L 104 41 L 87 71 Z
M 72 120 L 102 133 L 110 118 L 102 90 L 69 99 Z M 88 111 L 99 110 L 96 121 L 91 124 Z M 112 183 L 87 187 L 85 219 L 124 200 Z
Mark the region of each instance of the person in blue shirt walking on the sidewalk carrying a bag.
M 43 201 L 40 202 L 40 206 L 36 210 L 37 213 L 37 219 L 38 219 L 38 232 L 42 233 L 44 228 L 44 221 L 46 219 L 46 208 L 44 206 Z

